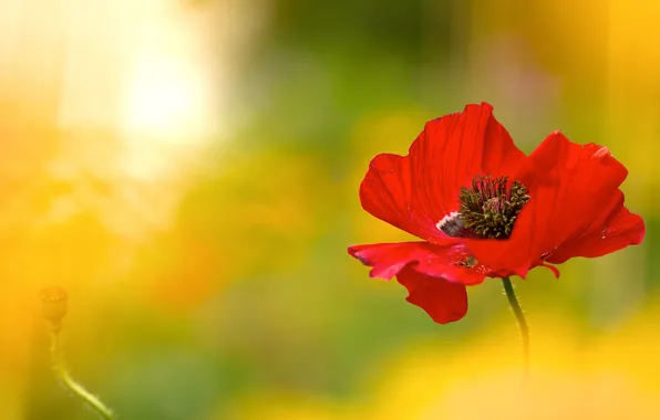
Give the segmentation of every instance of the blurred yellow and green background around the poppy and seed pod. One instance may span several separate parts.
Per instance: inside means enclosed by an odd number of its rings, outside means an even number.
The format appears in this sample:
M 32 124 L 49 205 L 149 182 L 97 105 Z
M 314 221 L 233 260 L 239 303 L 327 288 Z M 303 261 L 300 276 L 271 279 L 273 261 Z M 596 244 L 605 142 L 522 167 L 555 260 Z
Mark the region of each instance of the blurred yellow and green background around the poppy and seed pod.
M 121 419 L 657 419 L 656 1 L 1 0 L 0 418 L 94 418 L 52 376 L 38 292 L 70 294 L 73 375 Z M 486 101 L 630 170 L 640 246 L 501 283 L 441 326 L 347 246 L 379 153 Z M 539 227 L 543 229 L 543 227 Z

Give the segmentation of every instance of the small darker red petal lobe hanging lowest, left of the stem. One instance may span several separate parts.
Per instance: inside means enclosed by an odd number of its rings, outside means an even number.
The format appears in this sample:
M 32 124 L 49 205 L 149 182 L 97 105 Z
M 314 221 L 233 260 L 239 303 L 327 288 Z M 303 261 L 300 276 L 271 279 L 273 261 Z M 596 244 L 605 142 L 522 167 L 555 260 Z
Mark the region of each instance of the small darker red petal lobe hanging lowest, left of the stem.
M 463 284 L 432 277 L 405 269 L 396 276 L 408 288 L 405 298 L 424 309 L 439 324 L 458 321 L 467 313 L 467 291 Z

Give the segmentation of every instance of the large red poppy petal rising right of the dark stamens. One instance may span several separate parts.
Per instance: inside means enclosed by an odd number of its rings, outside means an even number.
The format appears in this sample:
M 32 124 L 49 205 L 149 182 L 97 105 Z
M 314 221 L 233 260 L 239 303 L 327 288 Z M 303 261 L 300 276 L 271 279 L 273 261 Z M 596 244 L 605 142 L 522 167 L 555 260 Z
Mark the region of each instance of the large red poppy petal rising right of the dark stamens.
M 512 237 L 466 242 L 475 258 L 499 275 L 525 276 L 542 259 L 598 225 L 604 213 L 620 206 L 612 198 L 620 195 L 618 188 L 628 174 L 606 148 L 574 144 L 559 132 L 550 134 L 529 159 L 530 170 L 519 180 L 532 199 Z

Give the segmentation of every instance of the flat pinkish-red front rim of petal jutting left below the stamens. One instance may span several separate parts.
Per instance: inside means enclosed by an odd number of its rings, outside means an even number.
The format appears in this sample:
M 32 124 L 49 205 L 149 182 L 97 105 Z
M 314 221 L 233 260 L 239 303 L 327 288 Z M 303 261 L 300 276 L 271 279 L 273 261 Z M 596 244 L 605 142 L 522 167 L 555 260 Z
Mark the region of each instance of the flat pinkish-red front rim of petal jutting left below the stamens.
M 355 245 L 349 248 L 349 254 L 373 267 L 372 277 L 390 280 L 404 269 L 462 284 L 478 284 L 485 277 L 481 267 L 457 265 L 467 253 L 462 244 L 452 240 L 442 245 L 429 242 Z

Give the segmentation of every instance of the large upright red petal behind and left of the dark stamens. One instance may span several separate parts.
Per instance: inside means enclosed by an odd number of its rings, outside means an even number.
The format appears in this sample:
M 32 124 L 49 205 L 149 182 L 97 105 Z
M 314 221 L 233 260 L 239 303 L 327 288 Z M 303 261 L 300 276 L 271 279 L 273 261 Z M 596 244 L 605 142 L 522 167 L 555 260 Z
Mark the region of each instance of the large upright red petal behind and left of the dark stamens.
M 488 104 L 429 122 L 405 157 L 379 155 L 360 187 L 364 210 L 429 241 L 456 211 L 461 187 L 475 175 L 511 175 L 525 161 Z

